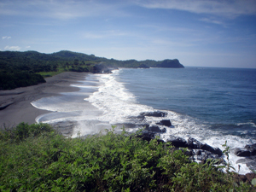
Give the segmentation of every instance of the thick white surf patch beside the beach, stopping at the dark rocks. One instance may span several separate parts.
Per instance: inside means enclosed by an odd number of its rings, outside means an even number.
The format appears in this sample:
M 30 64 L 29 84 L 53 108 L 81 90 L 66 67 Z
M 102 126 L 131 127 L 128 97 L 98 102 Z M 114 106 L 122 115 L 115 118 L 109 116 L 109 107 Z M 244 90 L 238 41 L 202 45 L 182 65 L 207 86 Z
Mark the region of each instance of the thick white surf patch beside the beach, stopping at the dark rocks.
M 91 102 L 96 108 L 102 110 L 103 115 L 99 120 L 108 121 L 110 124 L 125 122 L 129 116 L 137 116 L 143 111 L 153 108 L 137 103 L 136 97 L 125 89 L 124 84 L 116 81 L 113 74 L 96 75 L 101 85 L 98 91 L 84 100 Z

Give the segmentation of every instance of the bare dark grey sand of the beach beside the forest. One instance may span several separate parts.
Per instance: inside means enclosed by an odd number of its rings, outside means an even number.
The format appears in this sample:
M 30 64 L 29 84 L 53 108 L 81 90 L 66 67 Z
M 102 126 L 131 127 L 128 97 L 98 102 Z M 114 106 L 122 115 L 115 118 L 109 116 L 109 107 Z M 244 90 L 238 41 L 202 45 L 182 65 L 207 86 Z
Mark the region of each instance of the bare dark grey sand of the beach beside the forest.
M 21 122 L 36 123 L 38 115 L 49 111 L 34 108 L 31 102 L 42 97 L 57 96 L 61 92 L 78 91 L 69 86 L 83 80 L 86 73 L 67 72 L 47 78 L 46 83 L 15 90 L 0 90 L 0 127 L 13 127 Z

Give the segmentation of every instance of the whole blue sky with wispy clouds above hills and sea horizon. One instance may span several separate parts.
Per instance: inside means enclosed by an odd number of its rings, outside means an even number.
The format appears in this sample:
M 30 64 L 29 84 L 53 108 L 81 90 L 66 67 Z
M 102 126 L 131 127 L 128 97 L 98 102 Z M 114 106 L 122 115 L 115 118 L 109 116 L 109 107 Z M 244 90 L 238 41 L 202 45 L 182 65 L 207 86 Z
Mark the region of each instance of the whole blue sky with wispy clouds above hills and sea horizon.
M 256 0 L 0 0 L 0 50 L 256 68 Z

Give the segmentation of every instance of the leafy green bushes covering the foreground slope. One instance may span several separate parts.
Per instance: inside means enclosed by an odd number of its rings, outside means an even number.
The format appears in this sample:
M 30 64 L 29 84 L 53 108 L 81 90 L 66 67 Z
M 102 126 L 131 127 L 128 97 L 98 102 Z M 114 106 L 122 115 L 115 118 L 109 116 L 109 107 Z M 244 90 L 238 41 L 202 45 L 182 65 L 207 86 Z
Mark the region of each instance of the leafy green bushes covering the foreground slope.
M 21 123 L 0 132 L 1 191 L 253 191 L 232 174 L 125 131 L 72 139 Z

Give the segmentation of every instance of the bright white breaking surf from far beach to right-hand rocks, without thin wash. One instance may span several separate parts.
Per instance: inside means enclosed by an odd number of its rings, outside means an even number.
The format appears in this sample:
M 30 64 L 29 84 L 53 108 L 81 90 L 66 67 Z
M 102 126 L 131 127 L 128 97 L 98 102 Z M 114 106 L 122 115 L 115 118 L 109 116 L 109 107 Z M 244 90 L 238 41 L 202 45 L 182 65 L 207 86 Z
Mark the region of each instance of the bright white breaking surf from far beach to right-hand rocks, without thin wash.
M 194 137 L 202 143 L 207 143 L 223 150 L 224 147 L 222 145 L 225 141 L 227 141 L 230 148 L 243 148 L 248 143 L 256 142 L 252 139 L 223 134 L 221 131 L 213 131 L 210 129 L 209 124 L 204 124 L 201 120 L 189 117 L 189 115 L 186 114 L 180 114 L 170 110 L 161 110 L 160 108 L 156 109 L 138 103 L 137 97 L 125 88 L 124 83 L 117 80 L 119 71 L 113 74 L 96 75 L 96 77 L 100 82 L 99 89 L 84 100 L 102 110 L 102 115 L 97 118 L 100 121 L 108 122 L 109 124 L 127 124 L 131 123 L 131 116 L 137 116 L 142 112 L 160 110 L 168 113 L 167 117 L 146 117 L 146 121 L 148 124 L 155 125 L 155 123 L 159 122 L 161 119 L 171 120 L 172 128 L 167 128 L 166 133 L 160 134 L 163 140 L 166 140 L 170 135 L 183 138 Z M 230 162 L 234 166 L 239 159 L 241 158 L 236 157 L 235 154 L 230 154 Z M 250 172 L 244 164 L 240 166 L 240 173 Z

